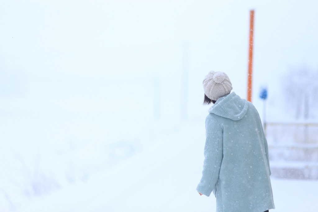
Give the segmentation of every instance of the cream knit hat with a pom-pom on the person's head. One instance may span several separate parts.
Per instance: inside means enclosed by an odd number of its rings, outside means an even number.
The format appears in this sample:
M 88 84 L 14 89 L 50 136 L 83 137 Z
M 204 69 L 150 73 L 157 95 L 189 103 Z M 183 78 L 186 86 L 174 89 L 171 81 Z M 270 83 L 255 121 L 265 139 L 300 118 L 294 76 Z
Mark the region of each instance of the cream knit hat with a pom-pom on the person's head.
M 229 94 L 232 90 L 232 83 L 226 73 L 209 72 L 203 80 L 205 95 L 212 100 Z

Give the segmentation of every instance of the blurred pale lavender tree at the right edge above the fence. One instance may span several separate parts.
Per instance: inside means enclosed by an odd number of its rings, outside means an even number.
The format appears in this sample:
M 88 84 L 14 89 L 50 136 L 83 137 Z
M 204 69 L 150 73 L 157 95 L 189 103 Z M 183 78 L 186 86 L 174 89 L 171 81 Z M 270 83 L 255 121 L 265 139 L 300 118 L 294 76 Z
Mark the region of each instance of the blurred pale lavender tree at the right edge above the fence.
M 287 108 L 296 119 L 315 118 L 318 110 L 318 71 L 302 67 L 292 69 L 283 78 Z

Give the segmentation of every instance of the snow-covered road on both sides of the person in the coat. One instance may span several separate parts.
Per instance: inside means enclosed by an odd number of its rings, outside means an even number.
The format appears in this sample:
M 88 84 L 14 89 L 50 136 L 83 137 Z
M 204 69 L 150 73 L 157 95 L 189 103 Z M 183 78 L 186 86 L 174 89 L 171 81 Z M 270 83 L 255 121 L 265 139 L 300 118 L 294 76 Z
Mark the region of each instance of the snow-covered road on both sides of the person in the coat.
M 201 177 L 203 130 L 184 125 L 158 136 L 129 160 L 87 182 L 34 197 L 17 211 L 214 211 L 214 196 L 199 196 L 195 190 Z M 275 211 L 317 211 L 318 181 L 272 179 L 272 186 Z

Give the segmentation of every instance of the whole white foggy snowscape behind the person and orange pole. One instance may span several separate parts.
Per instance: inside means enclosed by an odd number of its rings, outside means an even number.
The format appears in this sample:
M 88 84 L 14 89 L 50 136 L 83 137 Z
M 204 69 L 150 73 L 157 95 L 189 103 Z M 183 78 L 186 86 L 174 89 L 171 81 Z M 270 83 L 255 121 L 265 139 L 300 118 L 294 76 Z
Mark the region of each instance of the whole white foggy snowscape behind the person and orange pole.
M 0 2 L 0 211 L 214 210 L 202 80 L 246 98 L 251 9 L 276 211 L 316 211 L 318 2 L 194 0 Z

